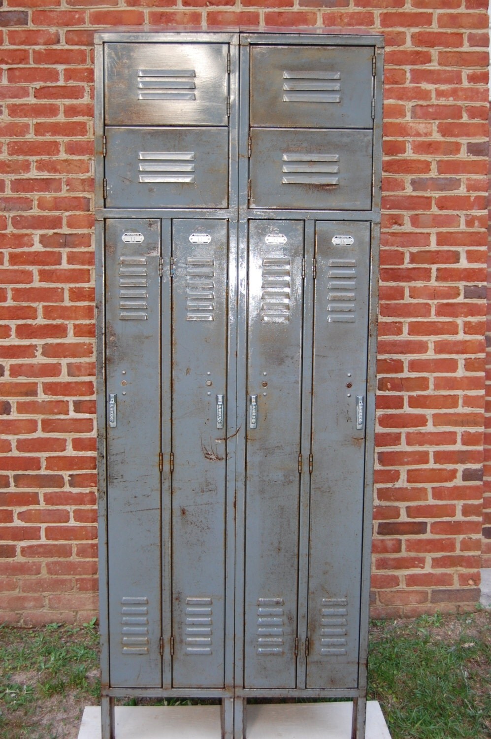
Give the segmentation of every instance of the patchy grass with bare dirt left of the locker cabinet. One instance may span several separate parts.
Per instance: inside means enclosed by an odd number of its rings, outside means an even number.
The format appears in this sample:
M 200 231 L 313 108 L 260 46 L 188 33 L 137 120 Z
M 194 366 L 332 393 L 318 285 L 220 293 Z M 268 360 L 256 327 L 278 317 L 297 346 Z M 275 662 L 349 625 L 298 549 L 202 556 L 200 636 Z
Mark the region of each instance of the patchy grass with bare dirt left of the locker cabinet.
M 84 627 L 0 627 L 0 736 L 76 737 L 83 706 L 99 700 L 95 621 Z

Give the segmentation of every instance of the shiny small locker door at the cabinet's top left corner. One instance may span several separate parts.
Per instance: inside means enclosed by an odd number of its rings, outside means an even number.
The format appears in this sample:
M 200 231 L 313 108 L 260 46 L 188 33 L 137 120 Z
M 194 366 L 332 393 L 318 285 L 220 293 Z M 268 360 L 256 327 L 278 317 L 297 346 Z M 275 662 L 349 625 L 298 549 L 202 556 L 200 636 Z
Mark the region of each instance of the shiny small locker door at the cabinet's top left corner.
M 106 125 L 227 126 L 227 52 L 227 44 L 107 44 Z

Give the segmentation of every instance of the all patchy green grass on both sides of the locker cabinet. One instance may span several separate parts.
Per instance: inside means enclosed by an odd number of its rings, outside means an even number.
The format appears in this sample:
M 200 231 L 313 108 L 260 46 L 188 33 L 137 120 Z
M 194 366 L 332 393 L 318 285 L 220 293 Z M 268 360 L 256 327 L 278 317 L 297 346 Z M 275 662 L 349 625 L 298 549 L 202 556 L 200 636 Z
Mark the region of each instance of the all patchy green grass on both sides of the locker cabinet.
M 374 621 L 368 668 L 368 697 L 380 701 L 392 739 L 491 739 L 491 611 Z M 2 739 L 76 739 L 99 689 L 94 621 L 0 627 Z

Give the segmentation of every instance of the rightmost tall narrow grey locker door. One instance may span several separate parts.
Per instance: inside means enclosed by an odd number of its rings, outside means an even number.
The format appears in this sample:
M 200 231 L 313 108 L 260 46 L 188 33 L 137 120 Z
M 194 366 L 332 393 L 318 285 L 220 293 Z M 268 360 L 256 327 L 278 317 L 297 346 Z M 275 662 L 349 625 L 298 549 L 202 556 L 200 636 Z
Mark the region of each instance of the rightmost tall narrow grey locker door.
M 370 224 L 317 222 L 307 681 L 357 687 Z

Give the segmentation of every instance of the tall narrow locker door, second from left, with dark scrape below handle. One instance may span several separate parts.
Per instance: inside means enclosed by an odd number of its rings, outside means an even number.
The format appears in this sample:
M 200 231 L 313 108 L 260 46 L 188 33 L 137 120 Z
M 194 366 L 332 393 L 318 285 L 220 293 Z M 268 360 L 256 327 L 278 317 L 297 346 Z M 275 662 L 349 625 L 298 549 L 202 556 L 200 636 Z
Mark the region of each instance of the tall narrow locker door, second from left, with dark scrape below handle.
M 174 687 L 224 684 L 227 223 L 173 223 Z

